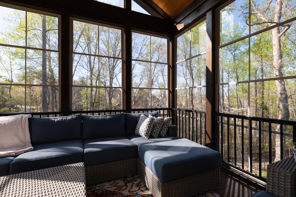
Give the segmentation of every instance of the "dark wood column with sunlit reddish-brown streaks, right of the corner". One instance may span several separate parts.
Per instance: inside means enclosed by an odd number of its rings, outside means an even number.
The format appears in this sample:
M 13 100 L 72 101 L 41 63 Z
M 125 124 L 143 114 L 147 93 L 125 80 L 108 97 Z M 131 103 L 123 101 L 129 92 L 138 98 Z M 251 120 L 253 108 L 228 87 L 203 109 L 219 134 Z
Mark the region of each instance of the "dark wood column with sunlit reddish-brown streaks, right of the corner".
M 216 150 L 215 133 L 215 9 L 207 12 L 206 146 Z

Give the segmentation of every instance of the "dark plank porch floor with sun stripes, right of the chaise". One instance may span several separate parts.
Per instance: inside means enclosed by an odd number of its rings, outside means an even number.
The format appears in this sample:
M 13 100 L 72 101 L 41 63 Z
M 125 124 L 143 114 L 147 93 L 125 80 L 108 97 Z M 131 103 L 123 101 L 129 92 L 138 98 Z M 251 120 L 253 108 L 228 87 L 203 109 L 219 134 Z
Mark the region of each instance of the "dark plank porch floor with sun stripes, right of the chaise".
M 220 169 L 220 188 L 214 191 L 222 197 L 251 197 L 253 193 L 259 190 L 260 188 L 256 185 L 249 185 Z

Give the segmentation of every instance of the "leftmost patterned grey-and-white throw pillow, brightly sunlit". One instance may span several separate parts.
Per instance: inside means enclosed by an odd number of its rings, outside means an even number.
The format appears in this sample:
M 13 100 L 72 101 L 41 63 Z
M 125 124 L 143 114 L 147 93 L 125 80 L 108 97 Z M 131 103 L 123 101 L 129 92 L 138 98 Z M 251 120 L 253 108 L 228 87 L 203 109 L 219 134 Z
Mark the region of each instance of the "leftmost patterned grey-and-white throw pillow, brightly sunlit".
M 139 122 L 136 127 L 135 134 L 146 139 L 149 138 L 152 126 L 154 123 L 154 117 L 140 116 Z

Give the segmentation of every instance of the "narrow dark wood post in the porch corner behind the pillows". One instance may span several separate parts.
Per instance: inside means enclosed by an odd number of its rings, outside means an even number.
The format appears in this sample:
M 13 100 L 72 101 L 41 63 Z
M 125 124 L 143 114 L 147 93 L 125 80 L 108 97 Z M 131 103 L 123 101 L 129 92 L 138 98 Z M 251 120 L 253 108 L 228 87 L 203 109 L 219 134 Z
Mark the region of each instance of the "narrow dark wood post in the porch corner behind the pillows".
M 169 67 L 168 67 L 168 108 L 175 108 L 175 37 L 170 37 L 169 45 Z M 173 116 L 173 110 L 169 112 Z

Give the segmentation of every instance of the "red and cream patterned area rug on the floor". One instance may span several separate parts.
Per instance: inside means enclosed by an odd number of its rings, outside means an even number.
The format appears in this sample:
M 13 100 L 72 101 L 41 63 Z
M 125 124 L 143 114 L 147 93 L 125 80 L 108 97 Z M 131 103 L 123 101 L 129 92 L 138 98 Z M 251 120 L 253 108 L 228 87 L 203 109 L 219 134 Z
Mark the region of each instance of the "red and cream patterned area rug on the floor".
M 131 175 L 101 184 L 88 185 L 87 197 L 153 197 L 138 175 Z M 195 197 L 221 197 L 214 191 L 200 193 Z

